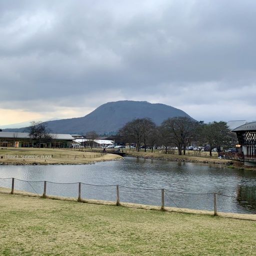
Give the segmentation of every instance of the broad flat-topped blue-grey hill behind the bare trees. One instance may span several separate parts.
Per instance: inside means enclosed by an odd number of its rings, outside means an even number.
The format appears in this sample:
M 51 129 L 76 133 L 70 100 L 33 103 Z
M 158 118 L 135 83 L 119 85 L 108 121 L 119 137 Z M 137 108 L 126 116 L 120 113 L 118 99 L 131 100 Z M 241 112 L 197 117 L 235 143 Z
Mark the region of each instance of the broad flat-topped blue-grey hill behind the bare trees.
M 91 113 L 77 118 L 47 121 L 47 127 L 54 133 L 84 134 L 95 130 L 99 134 L 114 133 L 134 118 L 151 118 L 157 125 L 174 116 L 187 116 L 184 111 L 160 103 L 120 100 L 107 102 Z M 190 117 L 191 118 L 191 117 Z M 3 129 L 4 131 L 27 131 L 27 128 Z

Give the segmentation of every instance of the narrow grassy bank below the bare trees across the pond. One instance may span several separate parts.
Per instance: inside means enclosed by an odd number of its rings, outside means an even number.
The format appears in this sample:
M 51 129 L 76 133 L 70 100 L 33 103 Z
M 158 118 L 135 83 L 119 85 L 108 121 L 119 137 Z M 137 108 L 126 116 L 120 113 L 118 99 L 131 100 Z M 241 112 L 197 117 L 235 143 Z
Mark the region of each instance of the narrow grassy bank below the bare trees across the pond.
M 177 155 L 177 154 L 165 154 L 161 152 L 136 152 L 127 151 L 127 156 L 144 157 L 152 159 L 163 159 L 171 161 L 187 161 L 187 162 L 202 162 L 202 163 L 217 163 L 217 164 L 230 164 L 230 160 L 211 158 L 209 156 L 197 156 L 197 155 Z

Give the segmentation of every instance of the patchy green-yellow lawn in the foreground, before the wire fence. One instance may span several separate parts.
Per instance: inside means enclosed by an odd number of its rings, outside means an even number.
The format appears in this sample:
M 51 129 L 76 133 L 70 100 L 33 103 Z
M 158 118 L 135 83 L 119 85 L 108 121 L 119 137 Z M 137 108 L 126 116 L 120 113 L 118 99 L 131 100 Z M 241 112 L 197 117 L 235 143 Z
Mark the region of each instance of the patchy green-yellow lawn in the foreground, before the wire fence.
M 256 255 L 256 221 L 0 194 L 0 255 Z

